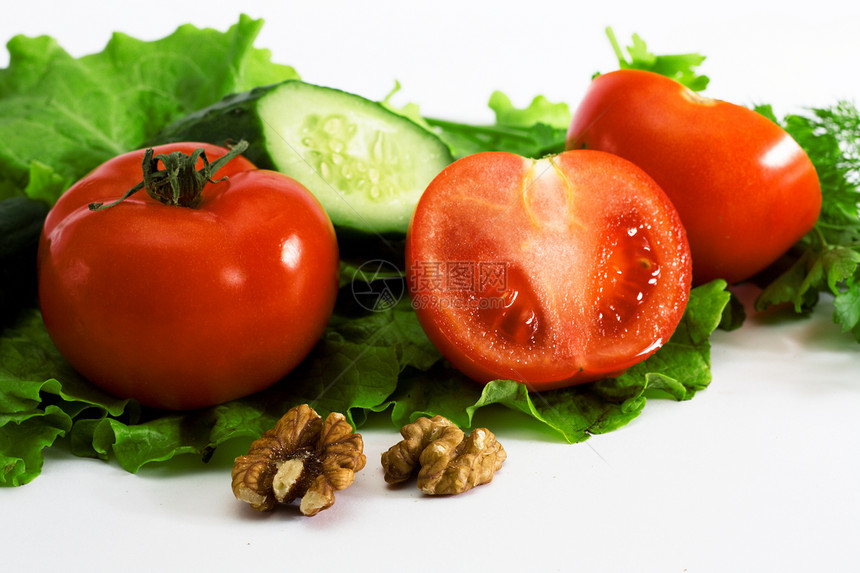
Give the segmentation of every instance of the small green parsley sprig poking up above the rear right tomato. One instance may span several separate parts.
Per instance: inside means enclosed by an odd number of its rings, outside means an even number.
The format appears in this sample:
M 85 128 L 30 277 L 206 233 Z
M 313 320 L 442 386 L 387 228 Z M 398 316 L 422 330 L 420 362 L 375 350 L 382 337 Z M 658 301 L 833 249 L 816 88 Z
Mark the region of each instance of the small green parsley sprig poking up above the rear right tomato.
M 672 78 L 693 91 L 702 91 L 708 87 L 710 81 L 707 76 L 696 72 L 705 61 L 701 54 L 672 54 L 656 55 L 648 50 L 645 41 L 638 35 L 633 34 L 633 43 L 627 47 L 628 59 L 615 38 L 612 28 L 606 28 L 606 35 L 618 58 L 618 67 L 622 70 L 645 70 L 658 73 Z

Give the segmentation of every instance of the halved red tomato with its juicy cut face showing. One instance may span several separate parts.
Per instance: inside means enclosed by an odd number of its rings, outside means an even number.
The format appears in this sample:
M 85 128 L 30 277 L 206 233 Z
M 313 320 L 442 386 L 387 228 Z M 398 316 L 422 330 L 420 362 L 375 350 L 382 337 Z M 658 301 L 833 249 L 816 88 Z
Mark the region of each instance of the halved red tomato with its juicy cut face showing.
M 547 390 L 666 342 L 690 289 L 684 229 L 641 169 L 598 151 L 479 153 L 424 192 L 407 235 L 418 319 L 479 382 Z

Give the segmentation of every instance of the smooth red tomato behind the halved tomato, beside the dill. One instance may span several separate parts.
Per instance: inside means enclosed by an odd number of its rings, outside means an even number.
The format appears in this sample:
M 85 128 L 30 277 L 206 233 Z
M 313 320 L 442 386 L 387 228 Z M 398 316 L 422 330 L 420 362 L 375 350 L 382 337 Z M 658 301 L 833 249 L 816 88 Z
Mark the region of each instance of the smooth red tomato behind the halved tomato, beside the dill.
M 815 168 L 781 127 L 653 72 L 595 78 L 566 147 L 614 153 L 654 178 L 686 227 L 694 284 L 753 276 L 812 229 L 821 210 Z

